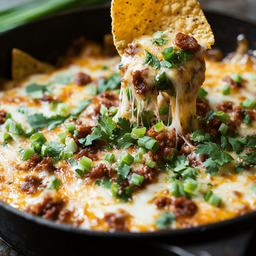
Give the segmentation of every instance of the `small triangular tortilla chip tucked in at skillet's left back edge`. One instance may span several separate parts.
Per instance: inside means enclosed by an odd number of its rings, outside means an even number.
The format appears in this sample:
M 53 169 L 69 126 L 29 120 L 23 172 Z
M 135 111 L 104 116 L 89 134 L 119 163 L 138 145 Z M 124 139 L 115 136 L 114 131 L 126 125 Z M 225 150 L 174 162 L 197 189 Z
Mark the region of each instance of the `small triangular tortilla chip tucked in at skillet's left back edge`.
M 39 61 L 22 50 L 16 48 L 12 50 L 12 78 L 15 81 L 35 73 L 48 73 L 54 69 L 54 66 Z

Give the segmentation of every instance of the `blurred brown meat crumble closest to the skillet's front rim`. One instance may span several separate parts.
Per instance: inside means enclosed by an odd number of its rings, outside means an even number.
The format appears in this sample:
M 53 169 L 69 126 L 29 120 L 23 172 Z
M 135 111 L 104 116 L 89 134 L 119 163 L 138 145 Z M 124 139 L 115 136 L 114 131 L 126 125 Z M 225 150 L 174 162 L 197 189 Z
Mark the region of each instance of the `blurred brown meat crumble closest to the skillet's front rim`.
M 105 220 L 108 223 L 109 229 L 126 231 L 128 227 L 128 218 L 130 215 L 119 209 L 116 213 L 105 213 Z

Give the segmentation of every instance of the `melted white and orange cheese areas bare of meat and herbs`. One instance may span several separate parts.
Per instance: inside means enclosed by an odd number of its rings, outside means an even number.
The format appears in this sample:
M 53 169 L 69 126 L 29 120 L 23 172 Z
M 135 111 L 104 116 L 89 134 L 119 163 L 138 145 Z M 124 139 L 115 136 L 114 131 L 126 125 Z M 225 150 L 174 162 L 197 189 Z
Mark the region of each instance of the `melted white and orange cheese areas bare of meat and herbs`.
M 144 40 L 149 40 L 145 38 Z M 146 41 L 145 41 L 146 45 Z M 143 47 L 145 47 L 145 45 Z M 169 46 L 169 45 L 168 45 Z M 191 67 L 197 67 L 200 69 L 201 54 L 203 47 L 197 52 L 195 60 L 188 62 L 185 66 L 180 67 L 182 70 L 186 71 L 187 74 L 191 71 Z M 140 55 L 137 57 L 137 61 L 141 62 L 144 59 L 144 53 L 141 51 Z M 131 59 L 127 58 L 125 63 L 130 63 Z M 51 115 L 50 107 L 47 102 L 40 103 L 32 100 L 28 95 L 25 94 L 25 87 L 31 83 L 46 84 L 48 82 L 53 82 L 54 77 L 66 76 L 67 74 L 74 74 L 76 72 L 82 71 L 89 74 L 93 79 L 97 79 L 101 76 L 109 76 L 112 72 L 117 72 L 119 58 L 106 58 L 102 56 L 86 57 L 86 59 L 73 59 L 72 65 L 68 68 L 57 70 L 48 75 L 33 75 L 30 76 L 26 81 L 20 83 L 18 86 L 14 86 L 12 83 L 6 84 L 6 90 L 1 92 L 1 110 L 12 113 L 12 117 L 15 121 L 21 122 L 22 127 L 25 129 L 29 127 L 26 122 L 27 114 L 21 114 L 17 112 L 17 107 L 30 106 L 33 109 L 31 113 L 44 113 L 45 115 Z M 129 70 L 137 68 L 137 62 L 131 62 L 134 65 L 129 65 Z M 201 63 L 201 62 L 200 62 Z M 108 70 L 102 70 L 102 65 L 108 66 Z M 246 68 L 245 68 L 246 65 Z M 204 66 L 202 64 L 202 66 Z M 238 91 L 232 91 L 230 95 L 223 96 L 221 94 L 221 88 L 223 82 L 221 78 L 229 75 L 233 72 L 234 66 L 236 66 L 236 72 L 239 72 L 243 76 L 243 87 Z M 142 68 L 140 66 L 140 68 Z M 159 70 L 148 67 L 153 72 L 153 77 L 159 73 Z M 246 71 L 244 71 L 246 69 Z M 128 70 L 128 69 L 127 69 Z M 171 127 L 178 129 L 178 124 L 183 120 L 185 127 L 190 126 L 191 115 L 195 114 L 195 109 L 193 109 L 194 94 L 196 94 L 199 84 L 195 84 L 193 81 L 192 89 L 189 90 L 191 95 L 189 97 L 193 98 L 191 103 L 187 101 L 184 97 L 183 87 L 186 81 L 190 81 L 191 77 L 184 78 L 183 82 L 177 81 L 175 76 L 177 75 L 178 69 L 168 69 L 165 70 L 169 79 L 172 80 L 175 85 L 176 100 L 171 99 L 172 114 L 175 123 Z M 185 72 L 184 71 L 184 72 Z M 204 82 L 203 88 L 208 92 L 207 100 L 212 108 L 215 108 L 218 103 L 223 101 L 231 101 L 234 105 L 239 105 L 242 98 L 255 99 L 256 92 L 256 81 L 252 79 L 252 73 L 256 73 L 253 70 L 251 63 L 247 62 L 242 66 L 237 66 L 237 63 L 232 64 L 230 62 L 212 62 L 206 61 L 206 80 Z M 202 77 L 202 74 L 200 73 Z M 131 78 L 130 78 L 131 79 Z M 129 81 L 129 79 L 127 80 Z M 122 101 L 119 107 L 119 115 L 123 116 L 126 111 L 126 107 L 129 108 L 130 104 L 128 99 L 125 98 L 125 82 L 122 84 L 121 95 Z M 128 85 L 127 85 L 128 86 Z M 54 95 L 61 99 L 63 102 L 68 102 L 71 106 L 76 106 L 77 102 L 83 99 L 92 98 L 91 95 L 86 95 L 83 93 L 84 88 L 76 86 L 73 82 L 70 82 L 67 86 L 61 84 L 51 84 L 53 88 Z M 181 88 L 180 88 L 181 87 Z M 132 88 L 132 86 L 131 86 Z M 134 89 L 132 88 L 133 92 Z M 193 92 L 193 93 L 192 93 Z M 155 92 L 154 92 L 155 93 Z M 153 98 L 153 101 L 157 104 L 155 96 L 156 94 L 148 95 Z M 143 100 L 140 95 L 135 95 L 137 101 Z M 186 96 L 186 95 L 185 95 Z M 193 97 L 192 97 L 193 96 Z M 183 102 L 183 103 L 182 103 Z M 185 102 L 185 103 L 184 103 Z M 193 104 L 192 104 L 193 102 Z M 182 104 L 184 107 L 180 108 Z M 188 111 L 189 108 L 189 111 Z M 95 124 L 95 120 L 88 117 L 88 112 L 90 111 L 90 106 L 84 110 L 78 118 L 78 121 L 83 123 Z M 123 112 L 121 112 L 123 111 Z M 176 113 L 178 112 L 178 113 Z M 157 110 L 155 111 L 155 114 Z M 176 121 L 175 121 L 176 119 Z M 179 121 L 178 121 L 179 120 Z M 196 126 L 196 124 L 193 124 Z M 242 123 L 238 127 L 238 132 L 240 135 L 253 134 L 255 132 L 256 122 L 253 121 L 253 127 Z M 184 130 L 182 126 L 179 128 Z M 43 134 L 49 141 L 58 141 L 56 134 L 59 131 L 66 131 L 63 124 L 58 125 L 52 131 L 45 131 Z M 0 138 L 3 138 L 6 129 L 4 125 L 1 125 Z M 116 212 L 118 209 L 125 210 L 131 217 L 129 218 L 129 224 L 127 229 L 134 232 L 141 231 L 155 231 L 157 230 L 155 225 L 155 219 L 158 217 L 163 210 L 157 209 L 153 204 L 155 198 L 161 196 L 169 196 L 170 183 L 167 182 L 165 177 L 172 177 L 173 173 L 160 173 L 158 175 L 157 181 L 147 185 L 145 188 L 136 191 L 133 195 L 132 201 L 127 203 L 121 203 L 116 200 L 111 195 L 109 189 L 103 188 L 101 186 L 96 186 L 93 179 L 77 178 L 70 170 L 71 165 L 66 160 L 59 160 L 56 162 L 55 167 L 58 167 L 58 172 L 54 173 L 56 178 L 61 180 L 61 186 L 56 190 L 49 189 L 38 189 L 35 194 L 26 195 L 23 193 L 19 186 L 24 181 L 27 175 L 35 175 L 42 178 L 42 184 L 46 185 L 51 179 L 53 173 L 49 172 L 47 169 L 39 170 L 19 170 L 16 168 L 17 164 L 23 163 L 18 153 L 19 147 L 29 148 L 30 140 L 23 136 L 16 134 L 11 134 L 13 141 L 8 143 L 7 146 L 0 146 L 0 168 L 1 168 L 1 190 L 0 198 L 7 204 L 24 210 L 28 207 L 34 207 L 36 204 L 42 202 L 47 193 L 51 194 L 52 197 L 57 200 L 58 198 L 66 199 L 65 209 L 72 211 L 69 222 L 73 226 L 78 226 L 80 228 L 86 229 L 97 229 L 97 230 L 108 230 L 109 227 L 104 221 L 104 215 L 107 212 Z M 2 140 L 3 141 L 3 140 Z M 131 146 L 127 151 L 135 156 L 137 146 Z M 116 150 L 113 148 L 111 153 L 115 154 L 115 161 L 120 156 L 122 150 Z M 246 152 L 241 153 L 242 155 Z M 100 163 L 110 166 L 109 163 L 103 160 L 106 151 L 101 148 L 97 153 L 99 156 L 98 161 L 93 161 L 92 166 L 97 166 Z M 236 159 L 235 152 L 231 153 L 234 159 Z M 143 155 L 144 158 L 149 158 L 148 153 Z M 193 201 L 195 201 L 198 206 L 198 211 L 196 214 L 189 218 L 179 218 L 176 223 L 172 224 L 173 228 L 185 228 L 187 226 L 197 226 L 203 225 L 215 221 L 225 220 L 234 216 L 237 216 L 243 212 L 256 210 L 256 195 L 252 192 L 252 186 L 256 184 L 255 168 L 252 167 L 249 170 L 244 170 L 241 173 L 234 174 L 231 170 L 234 164 L 237 163 L 237 159 L 229 163 L 226 167 L 221 167 L 219 172 L 214 176 L 205 174 L 205 169 L 201 166 L 198 167 L 198 181 L 201 182 L 201 188 L 197 195 L 192 195 Z M 132 164 L 133 168 L 140 168 L 141 164 Z M 208 183 L 213 185 L 212 191 L 215 195 L 218 195 L 222 199 L 221 207 L 215 207 L 204 201 L 203 195 L 206 191 Z M 239 192 L 240 196 L 238 196 Z

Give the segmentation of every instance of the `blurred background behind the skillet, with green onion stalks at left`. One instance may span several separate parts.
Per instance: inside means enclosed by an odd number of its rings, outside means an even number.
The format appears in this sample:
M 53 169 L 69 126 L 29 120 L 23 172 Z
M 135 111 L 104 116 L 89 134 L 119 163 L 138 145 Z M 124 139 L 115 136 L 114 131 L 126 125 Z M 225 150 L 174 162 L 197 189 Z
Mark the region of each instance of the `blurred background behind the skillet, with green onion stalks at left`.
M 0 33 L 30 20 L 69 9 L 97 5 L 109 0 L 0 0 Z M 202 9 L 256 22 L 255 0 L 198 0 Z

